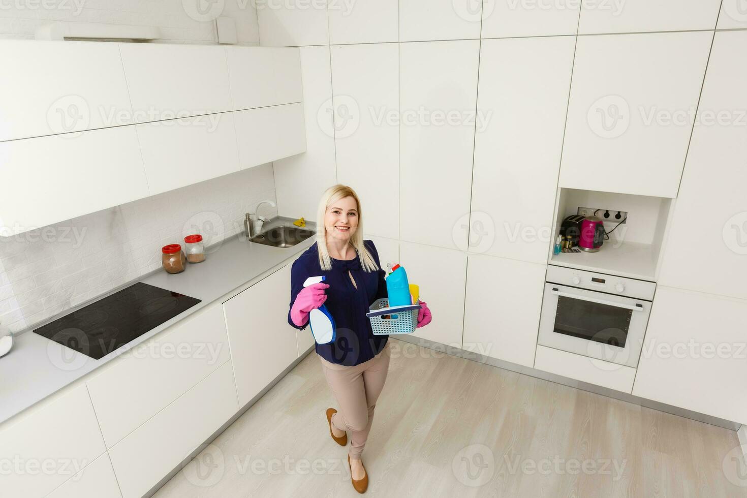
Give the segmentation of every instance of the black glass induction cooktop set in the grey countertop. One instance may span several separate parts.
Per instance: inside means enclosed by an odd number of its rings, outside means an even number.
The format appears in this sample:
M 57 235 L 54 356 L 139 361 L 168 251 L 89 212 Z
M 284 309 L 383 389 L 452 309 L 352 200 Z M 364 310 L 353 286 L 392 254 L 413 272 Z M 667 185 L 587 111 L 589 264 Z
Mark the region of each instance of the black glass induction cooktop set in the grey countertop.
M 137 282 L 34 332 L 98 360 L 198 302 Z

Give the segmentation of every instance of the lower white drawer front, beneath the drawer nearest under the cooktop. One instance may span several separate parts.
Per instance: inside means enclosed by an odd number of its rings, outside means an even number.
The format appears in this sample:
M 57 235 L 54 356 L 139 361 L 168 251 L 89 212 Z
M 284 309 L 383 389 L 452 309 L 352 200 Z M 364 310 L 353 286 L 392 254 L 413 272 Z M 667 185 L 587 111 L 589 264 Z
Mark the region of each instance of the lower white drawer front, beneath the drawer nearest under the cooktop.
M 231 361 L 109 449 L 124 498 L 140 498 L 236 412 Z

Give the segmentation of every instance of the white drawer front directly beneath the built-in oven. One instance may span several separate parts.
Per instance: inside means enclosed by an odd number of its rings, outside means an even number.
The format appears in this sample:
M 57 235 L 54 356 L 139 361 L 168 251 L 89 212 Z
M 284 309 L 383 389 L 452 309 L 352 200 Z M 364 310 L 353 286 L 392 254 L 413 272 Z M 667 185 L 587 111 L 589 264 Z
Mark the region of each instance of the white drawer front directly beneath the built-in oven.
M 630 393 L 636 369 L 576 355 L 559 349 L 537 346 L 534 367 L 559 376 Z

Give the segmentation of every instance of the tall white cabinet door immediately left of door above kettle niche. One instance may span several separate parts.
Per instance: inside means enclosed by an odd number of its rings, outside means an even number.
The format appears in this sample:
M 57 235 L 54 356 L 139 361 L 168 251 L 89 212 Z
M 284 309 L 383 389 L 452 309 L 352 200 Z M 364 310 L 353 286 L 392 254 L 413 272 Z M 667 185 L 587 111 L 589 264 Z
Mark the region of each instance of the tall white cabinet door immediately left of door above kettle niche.
M 477 110 L 489 119 L 475 136 L 471 252 L 547 261 L 574 46 L 483 40 Z

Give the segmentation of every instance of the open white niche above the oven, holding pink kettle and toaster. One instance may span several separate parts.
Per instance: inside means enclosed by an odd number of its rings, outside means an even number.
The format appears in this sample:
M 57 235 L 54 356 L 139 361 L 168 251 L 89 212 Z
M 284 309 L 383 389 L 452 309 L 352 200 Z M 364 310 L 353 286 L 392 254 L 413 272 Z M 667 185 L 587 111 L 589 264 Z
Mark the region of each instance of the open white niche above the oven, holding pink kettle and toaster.
M 604 222 L 605 231 L 611 233 L 598 252 L 553 255 L 551 250 L 549 262 L 560 267 L 656 281 L 674 202 L 668 197 L 561 188 L 558 190 L 554 237 L 557 237 L 565 217 L 571 214 L 590 216 L 595 211 Z M 586 211 L 580 212 L 582 208 Z M 605 218 L 607 210 L 623 211 L 627 218 L 616 220 L 613 215 Z

